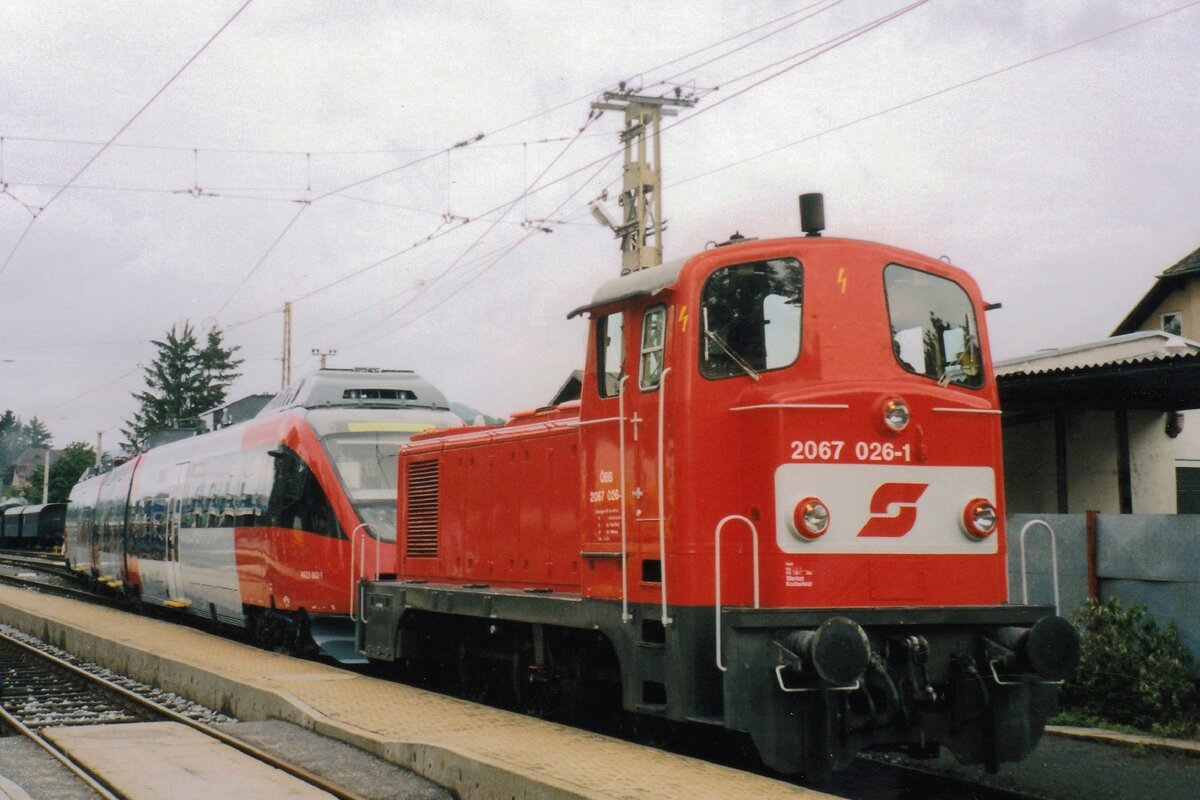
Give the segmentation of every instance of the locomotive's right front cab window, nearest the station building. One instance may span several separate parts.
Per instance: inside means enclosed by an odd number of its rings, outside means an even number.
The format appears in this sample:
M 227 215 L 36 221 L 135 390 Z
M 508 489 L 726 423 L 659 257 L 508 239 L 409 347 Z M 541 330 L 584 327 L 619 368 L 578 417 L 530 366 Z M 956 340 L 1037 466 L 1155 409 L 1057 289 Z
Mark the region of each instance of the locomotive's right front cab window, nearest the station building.
M 892 323 L 892 351 L 900 366 L 940 384 L 983 386 L 983 357 L 974 307 L 954 281 L 889 264 L 883 289 Z

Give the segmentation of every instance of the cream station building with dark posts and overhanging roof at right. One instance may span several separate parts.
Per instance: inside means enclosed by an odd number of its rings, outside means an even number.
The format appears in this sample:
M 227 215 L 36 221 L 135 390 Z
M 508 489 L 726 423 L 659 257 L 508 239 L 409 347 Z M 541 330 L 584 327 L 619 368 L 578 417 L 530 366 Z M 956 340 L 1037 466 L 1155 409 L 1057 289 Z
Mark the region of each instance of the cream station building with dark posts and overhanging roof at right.
M 1109 338 L 996 363 L 1010 513 L 1200 513 L 1200 249 Z

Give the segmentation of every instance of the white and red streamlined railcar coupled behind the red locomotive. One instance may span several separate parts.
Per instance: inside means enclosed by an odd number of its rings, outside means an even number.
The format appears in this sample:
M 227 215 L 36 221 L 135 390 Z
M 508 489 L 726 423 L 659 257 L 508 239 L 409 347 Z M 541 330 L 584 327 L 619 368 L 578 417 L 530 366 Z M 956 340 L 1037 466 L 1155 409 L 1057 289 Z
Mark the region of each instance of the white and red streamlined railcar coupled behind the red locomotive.
M 410 372 L 318 371 L 248 421 L 85 475 L 68 564 L 262 644 L 361 662 L 353 588 L 374 570 L 367 552 L 395 548 L 396 453 L 451 425 L 445 397 Z

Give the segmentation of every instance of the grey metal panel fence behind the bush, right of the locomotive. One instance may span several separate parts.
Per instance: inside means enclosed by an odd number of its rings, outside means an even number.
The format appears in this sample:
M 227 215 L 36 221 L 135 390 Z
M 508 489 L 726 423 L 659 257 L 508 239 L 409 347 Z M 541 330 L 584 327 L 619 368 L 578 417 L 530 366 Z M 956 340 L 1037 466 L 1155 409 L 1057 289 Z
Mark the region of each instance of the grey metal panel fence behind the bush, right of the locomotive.
M 1055 533 L 1063 615 L 1087 601 L 1085 515 L 1012 515 L 1008 518 L 1008 596 L 1022 602 L 1021 529 L 1034 519 Z M 1050 536 L 1042 525 L 1025 534 L 1028 601 L 1054 602 Z M 1159 625 L 1175 622 L 1200 678 L 1200 515 L 1097 515 L 1094 570 L 1099 597 L 1140 603 Z

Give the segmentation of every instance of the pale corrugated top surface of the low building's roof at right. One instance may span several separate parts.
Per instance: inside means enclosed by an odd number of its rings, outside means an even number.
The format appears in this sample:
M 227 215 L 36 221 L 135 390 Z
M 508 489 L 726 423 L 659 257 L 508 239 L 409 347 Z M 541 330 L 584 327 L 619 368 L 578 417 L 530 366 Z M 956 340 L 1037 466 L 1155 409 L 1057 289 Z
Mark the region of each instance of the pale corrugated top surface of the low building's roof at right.
M 1164 361 L 1200 355 L 1200 342 L 1164 331 L 1136 331 L 1099 342 L 1006 359 L 995 365 L 996 377 L 1037 375 L 1111 367 L 1142 361 Z

